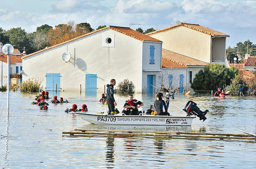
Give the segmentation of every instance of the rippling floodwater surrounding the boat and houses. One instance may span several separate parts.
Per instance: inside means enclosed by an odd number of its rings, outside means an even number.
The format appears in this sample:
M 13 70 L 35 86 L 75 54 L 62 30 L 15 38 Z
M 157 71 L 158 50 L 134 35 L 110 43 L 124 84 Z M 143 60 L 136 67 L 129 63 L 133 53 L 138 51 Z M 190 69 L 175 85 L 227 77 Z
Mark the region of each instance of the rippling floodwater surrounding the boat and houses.
M 0 92 L 0 164 L 1 168 L 255 168 L 256 145 L 253 140 L 176 139 L 145 136 L 64 136 L 76 128 L 169 130 L 242 134 L 255 133 L 256 98 L 175 96 L 170 101 L 171 115 L 186 115 L 182 108 L 188 100 L 201 110 L 209 109 L 205 122 L 194 119 L 192 126 L 95 126 L 66 107 L 86 103 L 91 112 L 106 111 L 107 105 L 84 94 L 61 92 L 70 103 L 53 105 L 47 111 L 32 105 L 35 94 L 10 93 L 7 116 L 7 92 Z M 51 96 L 53 97 L 53 96 Z M 128 96 L 115 96 L 120 110 Z M 149 108 L 155 100 L 135 94 Z M 49 102 L 49 101 L 48 101 Z

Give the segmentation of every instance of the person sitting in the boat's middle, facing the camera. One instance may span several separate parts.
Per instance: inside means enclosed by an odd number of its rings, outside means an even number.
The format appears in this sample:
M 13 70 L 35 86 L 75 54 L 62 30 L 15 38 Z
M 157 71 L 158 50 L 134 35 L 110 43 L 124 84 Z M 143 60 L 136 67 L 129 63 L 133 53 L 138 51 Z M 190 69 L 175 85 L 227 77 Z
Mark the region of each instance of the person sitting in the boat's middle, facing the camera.
M 123 110 L 122 113 L 125 115 L 139 115 L 142 112 L 138 109 L 143 105 L 144 104 L 142 102 L 134 99 L 134 96 L 130 94 L 129 100 L 126 100 L 124 103 L 124 108 L 126 108 L 126 110 Z

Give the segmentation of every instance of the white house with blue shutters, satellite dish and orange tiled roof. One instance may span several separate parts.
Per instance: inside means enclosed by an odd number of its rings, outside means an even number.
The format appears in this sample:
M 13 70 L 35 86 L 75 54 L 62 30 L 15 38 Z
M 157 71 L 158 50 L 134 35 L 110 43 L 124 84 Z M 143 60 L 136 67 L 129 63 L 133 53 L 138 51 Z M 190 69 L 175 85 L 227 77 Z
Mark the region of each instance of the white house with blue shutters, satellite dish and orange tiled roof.
M 70 41 L 22 56 L 23 81 L 43 79 L 45 90 L 104 92 L 116 79 L 151 93 L 161 79 L 162 41 L 126 27 L 107 26 Z

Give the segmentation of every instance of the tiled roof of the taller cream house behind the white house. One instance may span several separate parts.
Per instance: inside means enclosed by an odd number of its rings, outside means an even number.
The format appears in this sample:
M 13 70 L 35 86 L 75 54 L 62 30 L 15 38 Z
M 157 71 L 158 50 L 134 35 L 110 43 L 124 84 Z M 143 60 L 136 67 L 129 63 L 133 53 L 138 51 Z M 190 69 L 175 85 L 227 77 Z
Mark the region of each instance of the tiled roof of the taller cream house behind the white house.
M 188 24 L 188 23 L 182 23 L 182 22 L 180 22 L 180 24 L 177 24 L 175 26 L 170 26 L 168 28 L 164 28 L 164 29 L 160 29 L 160 30 L 157 30 L 157 31 L 153 31 L 151 33 L 147 33 L 146 35 L 152 35 L 154 33 L 159 33 L 161 31 L 166 31 L 168 29 L 176 28 L 178 26 L 184 26 L 186 28 L 194 29 L 196 31 L 200 31 L 202 33 L 206 33 L 206 34 L 214 36 L 214 37 L 230 37 L 229 35 L 227 35 L 225 33 L 221 33 L 220 31 L 215 31 L 213 29 L 209 29 L 209 28 L 205 28 L 203 26 L 199 26 L 199 24 Z

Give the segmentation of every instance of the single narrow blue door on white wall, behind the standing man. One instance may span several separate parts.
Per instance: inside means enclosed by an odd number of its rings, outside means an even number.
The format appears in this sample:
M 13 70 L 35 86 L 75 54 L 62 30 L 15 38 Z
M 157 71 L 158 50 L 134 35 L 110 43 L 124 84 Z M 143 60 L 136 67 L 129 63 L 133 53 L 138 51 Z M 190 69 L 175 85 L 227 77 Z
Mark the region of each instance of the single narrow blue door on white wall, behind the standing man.
M 97 96 L 97 74 L 86 74 L 86 96 Z

